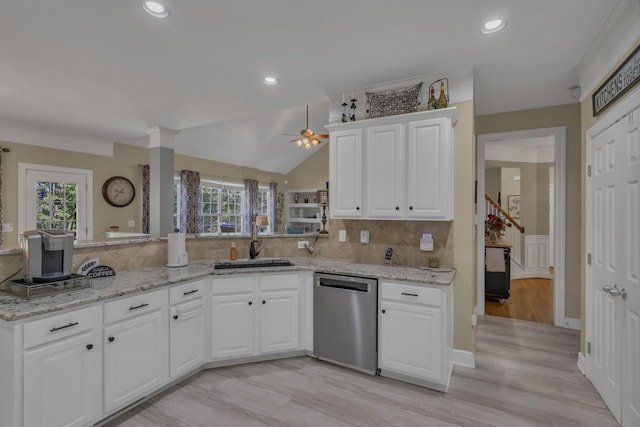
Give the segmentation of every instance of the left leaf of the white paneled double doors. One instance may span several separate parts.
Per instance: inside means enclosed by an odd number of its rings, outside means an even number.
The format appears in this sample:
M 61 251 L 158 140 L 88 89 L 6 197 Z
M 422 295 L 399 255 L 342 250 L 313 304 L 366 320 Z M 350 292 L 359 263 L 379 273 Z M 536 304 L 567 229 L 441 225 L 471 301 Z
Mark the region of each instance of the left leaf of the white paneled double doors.
M 591 145 L 590 206 L 592 215 L 591 261 L 591 381 L 614 417 L 620 422 L 620 329 L 621 312 L 616 300 L 603 288 L 613 287 L 618 272 L 616 249 L 616 202 L 619 203 L 616 151 L 619 150 L 616 127 L 596 136 Z

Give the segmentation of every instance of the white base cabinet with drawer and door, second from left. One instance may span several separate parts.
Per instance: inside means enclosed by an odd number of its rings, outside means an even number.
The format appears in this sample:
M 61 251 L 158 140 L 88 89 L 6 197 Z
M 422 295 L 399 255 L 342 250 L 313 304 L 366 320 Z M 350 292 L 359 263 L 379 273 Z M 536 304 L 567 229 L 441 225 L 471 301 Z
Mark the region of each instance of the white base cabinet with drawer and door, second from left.
M 104 409 L 111 413 L 169 377 L 167 290 L 106 303 Z

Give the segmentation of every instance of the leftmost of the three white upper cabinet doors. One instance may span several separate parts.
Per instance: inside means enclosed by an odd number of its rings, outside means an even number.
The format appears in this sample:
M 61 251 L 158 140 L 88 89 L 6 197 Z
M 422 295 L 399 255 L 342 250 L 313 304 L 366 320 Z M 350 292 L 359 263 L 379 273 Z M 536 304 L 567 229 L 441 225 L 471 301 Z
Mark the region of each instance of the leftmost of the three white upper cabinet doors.
M 362 130 L 332 132 L 329 141 L 331 218 L 362 216 Z

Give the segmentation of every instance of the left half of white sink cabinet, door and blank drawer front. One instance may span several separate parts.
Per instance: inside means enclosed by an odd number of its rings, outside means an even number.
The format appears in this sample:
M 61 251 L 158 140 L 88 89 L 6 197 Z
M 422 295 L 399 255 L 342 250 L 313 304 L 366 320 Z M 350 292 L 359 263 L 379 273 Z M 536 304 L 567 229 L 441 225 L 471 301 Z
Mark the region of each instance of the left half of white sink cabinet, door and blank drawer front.
M 252 356 L 256 352 L 256 277 L 214 278 L 211 287 L 211 357 Z

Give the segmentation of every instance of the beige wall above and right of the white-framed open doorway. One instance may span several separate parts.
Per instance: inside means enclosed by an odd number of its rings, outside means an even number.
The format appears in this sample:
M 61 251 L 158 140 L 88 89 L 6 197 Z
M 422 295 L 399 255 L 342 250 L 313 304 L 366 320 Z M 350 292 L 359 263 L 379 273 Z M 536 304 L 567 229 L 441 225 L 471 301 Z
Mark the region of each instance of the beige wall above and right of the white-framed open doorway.
M 568 104 L 476 117 L 477 134 L 559 126 L 566 128 L 565 316 L 576 319 L 581 318 L 582 313 L 580 304 L 582 271 L 580 110 L 580 104 Z

